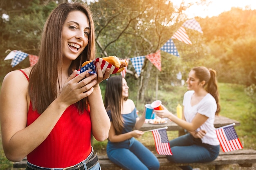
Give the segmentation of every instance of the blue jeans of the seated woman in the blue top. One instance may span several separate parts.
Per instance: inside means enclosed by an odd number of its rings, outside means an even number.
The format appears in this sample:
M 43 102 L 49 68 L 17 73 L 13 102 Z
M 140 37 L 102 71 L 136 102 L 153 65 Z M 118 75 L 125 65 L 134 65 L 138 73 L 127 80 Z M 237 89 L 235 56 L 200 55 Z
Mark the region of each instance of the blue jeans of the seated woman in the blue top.
M 122 142 L 108 142 L 107 155 L 110 161 L 126 170 L 158 170 L 155 155 L 135 138 Z

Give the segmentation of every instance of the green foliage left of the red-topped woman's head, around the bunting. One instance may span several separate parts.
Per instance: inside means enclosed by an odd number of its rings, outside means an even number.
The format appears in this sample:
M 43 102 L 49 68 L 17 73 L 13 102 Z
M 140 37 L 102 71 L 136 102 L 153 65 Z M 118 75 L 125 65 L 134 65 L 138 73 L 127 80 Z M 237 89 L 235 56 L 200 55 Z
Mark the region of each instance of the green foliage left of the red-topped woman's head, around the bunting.
M 11 68 L 11 61 L 4 61 L 4 57 L 8 54 L 5 51 L 21 50 L 37 55 L 43 25 L 49 13 L 56 7 L 56 3 L 52 1 L 47 5 L 40 0 L 24 1 L 24 3 L 11 0 L 8 3 L 13 4 L 15 10 L 6 8 L 2 12 L 8 14 L 9 21 L 0 19 L 0 82 L 3 76 L 13 69 L 21 69 L 30 65 L 27 57 L 15 68 Z

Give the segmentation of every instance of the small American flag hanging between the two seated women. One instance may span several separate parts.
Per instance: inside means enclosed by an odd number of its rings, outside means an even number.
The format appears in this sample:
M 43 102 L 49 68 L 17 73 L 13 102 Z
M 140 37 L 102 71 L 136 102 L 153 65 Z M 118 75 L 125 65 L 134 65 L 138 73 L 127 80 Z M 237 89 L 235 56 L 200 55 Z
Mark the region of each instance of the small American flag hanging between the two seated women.
M 159 155 L 173 155 L 168 142 L 166 129 L 156 129 L 152 131 L 155 139 L 155 148 Z

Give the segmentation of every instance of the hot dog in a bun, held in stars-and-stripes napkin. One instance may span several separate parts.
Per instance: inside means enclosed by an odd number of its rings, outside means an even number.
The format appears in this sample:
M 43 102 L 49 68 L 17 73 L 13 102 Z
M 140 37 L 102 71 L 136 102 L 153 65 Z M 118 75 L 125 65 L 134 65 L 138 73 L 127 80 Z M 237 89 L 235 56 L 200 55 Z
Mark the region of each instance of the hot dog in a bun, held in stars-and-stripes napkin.
M 117 71 L 117 73 L 120 73 L 121 71 L 124 70 L 124 68 L 128 65 L 126 60 L 119 60 L 119 58 L 117 58 L 116 56 L 108 56 L 108 57 L 102 57 L 102 60 L 105 60 L 106 62 L 112 64 L 113 66 L 119 68 L 119 70 Z M 89 64 L 90 62 L 92 62 L 92 60 L 90 61 L 86 61 L 82 64 L 82 67 L 85 66 L 86 64 Z

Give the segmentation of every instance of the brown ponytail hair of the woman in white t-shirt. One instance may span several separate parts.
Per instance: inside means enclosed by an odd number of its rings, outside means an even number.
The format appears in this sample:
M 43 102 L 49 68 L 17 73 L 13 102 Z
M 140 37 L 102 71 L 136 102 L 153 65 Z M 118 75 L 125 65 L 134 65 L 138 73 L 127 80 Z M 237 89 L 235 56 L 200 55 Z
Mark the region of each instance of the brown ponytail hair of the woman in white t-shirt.
M 200 82 L 205 81 L 204 88 L 210 93 L 217 103 L 216 115 L 220 113 L 220 95 L 218 91 L 218 84 L 216 78 L 216 71 L 213 69 L 208 69 L 204 66 L 192 68 L 195 71 L 195 77 L 199 79 Z

